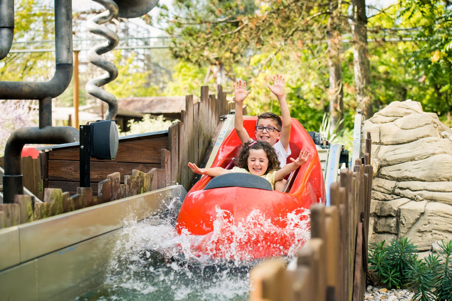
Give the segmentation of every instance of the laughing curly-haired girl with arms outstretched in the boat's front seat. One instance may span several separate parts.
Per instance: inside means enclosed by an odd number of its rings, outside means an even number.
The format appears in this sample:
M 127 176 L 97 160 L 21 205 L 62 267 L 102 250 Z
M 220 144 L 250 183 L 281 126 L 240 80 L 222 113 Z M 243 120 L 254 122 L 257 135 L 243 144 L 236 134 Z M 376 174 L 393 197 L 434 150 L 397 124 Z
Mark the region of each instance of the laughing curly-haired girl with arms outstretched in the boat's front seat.
M 308 161 L 310 154 L 307 149 L 300 151 L 297 159 L 290 158 L 292 163 L 279 168 L 278 156 L 275 149 L 264 141 L 253 141 L 242 144 L 239 151 L 237 166 L 232 169 L 222 167 L 199 168 L 196 164 L 189 162 L 188 167 L 194 173 L 207 176 L 220 176 L 230 172 L 244 172 L 263 177 L 270 182 L 275 189 L 275 181 L 284 179 L 297 167 Z

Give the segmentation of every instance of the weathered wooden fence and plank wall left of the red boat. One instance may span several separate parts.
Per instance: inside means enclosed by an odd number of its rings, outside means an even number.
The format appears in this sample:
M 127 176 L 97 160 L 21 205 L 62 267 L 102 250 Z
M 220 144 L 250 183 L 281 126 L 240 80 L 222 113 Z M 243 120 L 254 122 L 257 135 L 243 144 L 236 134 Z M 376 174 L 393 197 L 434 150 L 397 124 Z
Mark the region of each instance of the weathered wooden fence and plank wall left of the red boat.
M 201 165 L 212 138 L 221 127 L 220 117 L 235 107 L 234 103 L 227 102 L 221 85 L 217 93 L 218 97 L 209 95 L 208 87 L 201 87 L 200 102 L 193 103 L 193 95 L 188 95 L 180 121 L 168 131 L 121 139 L 115 160 L 93 158 L 91 187 L 77 186 L 80 183 L 79 145 L 42 153 L 43 202 L 15 195 L 14 204 L 0 205 L 0 228 L 174 184 L 188 190 L 195 180 L 188 162 Z

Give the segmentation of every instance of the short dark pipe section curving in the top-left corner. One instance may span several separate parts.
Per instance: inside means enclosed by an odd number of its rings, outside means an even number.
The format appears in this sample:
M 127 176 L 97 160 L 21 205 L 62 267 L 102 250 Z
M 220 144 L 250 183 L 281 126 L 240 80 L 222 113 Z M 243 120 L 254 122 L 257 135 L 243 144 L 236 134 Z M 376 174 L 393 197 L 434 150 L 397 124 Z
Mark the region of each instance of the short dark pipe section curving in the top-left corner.
M 0 1 L 0 60 L 11 50 L 14 35 L 14 0 Z

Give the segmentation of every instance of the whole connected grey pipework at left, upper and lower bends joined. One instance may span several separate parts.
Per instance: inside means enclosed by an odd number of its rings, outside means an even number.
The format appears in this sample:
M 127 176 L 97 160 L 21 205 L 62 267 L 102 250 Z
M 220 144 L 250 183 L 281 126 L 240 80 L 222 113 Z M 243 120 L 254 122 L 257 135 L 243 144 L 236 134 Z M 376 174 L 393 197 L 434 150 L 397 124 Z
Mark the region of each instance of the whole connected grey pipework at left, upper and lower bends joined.
M 15 194 L 24 193 L 20 157 L 25 144 L 61 144 L 75 142 L 79 138 L 79 131 L 73 127 L 52 127 L 52 97 L 63 93 L 72 79 L 71 7 L 71 0 L 55 0 L 56 70 L 53 78 L 45 83 L 0 81 L 0 99 L 39 99 L 39 127 L 17 129 L 6 142 L 4 203 L 13 203 Z

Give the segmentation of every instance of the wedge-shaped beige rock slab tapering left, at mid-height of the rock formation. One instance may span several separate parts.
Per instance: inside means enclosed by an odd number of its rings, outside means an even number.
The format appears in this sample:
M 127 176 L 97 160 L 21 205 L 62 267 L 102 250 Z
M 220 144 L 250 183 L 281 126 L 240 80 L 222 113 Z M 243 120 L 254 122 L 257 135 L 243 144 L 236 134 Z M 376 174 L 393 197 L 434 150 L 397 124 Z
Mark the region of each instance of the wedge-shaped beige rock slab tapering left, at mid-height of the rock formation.
M 435 155 L 423 160 L 382 167 L 380 174 L 392 181 L 451 181 L 452 155 Z

